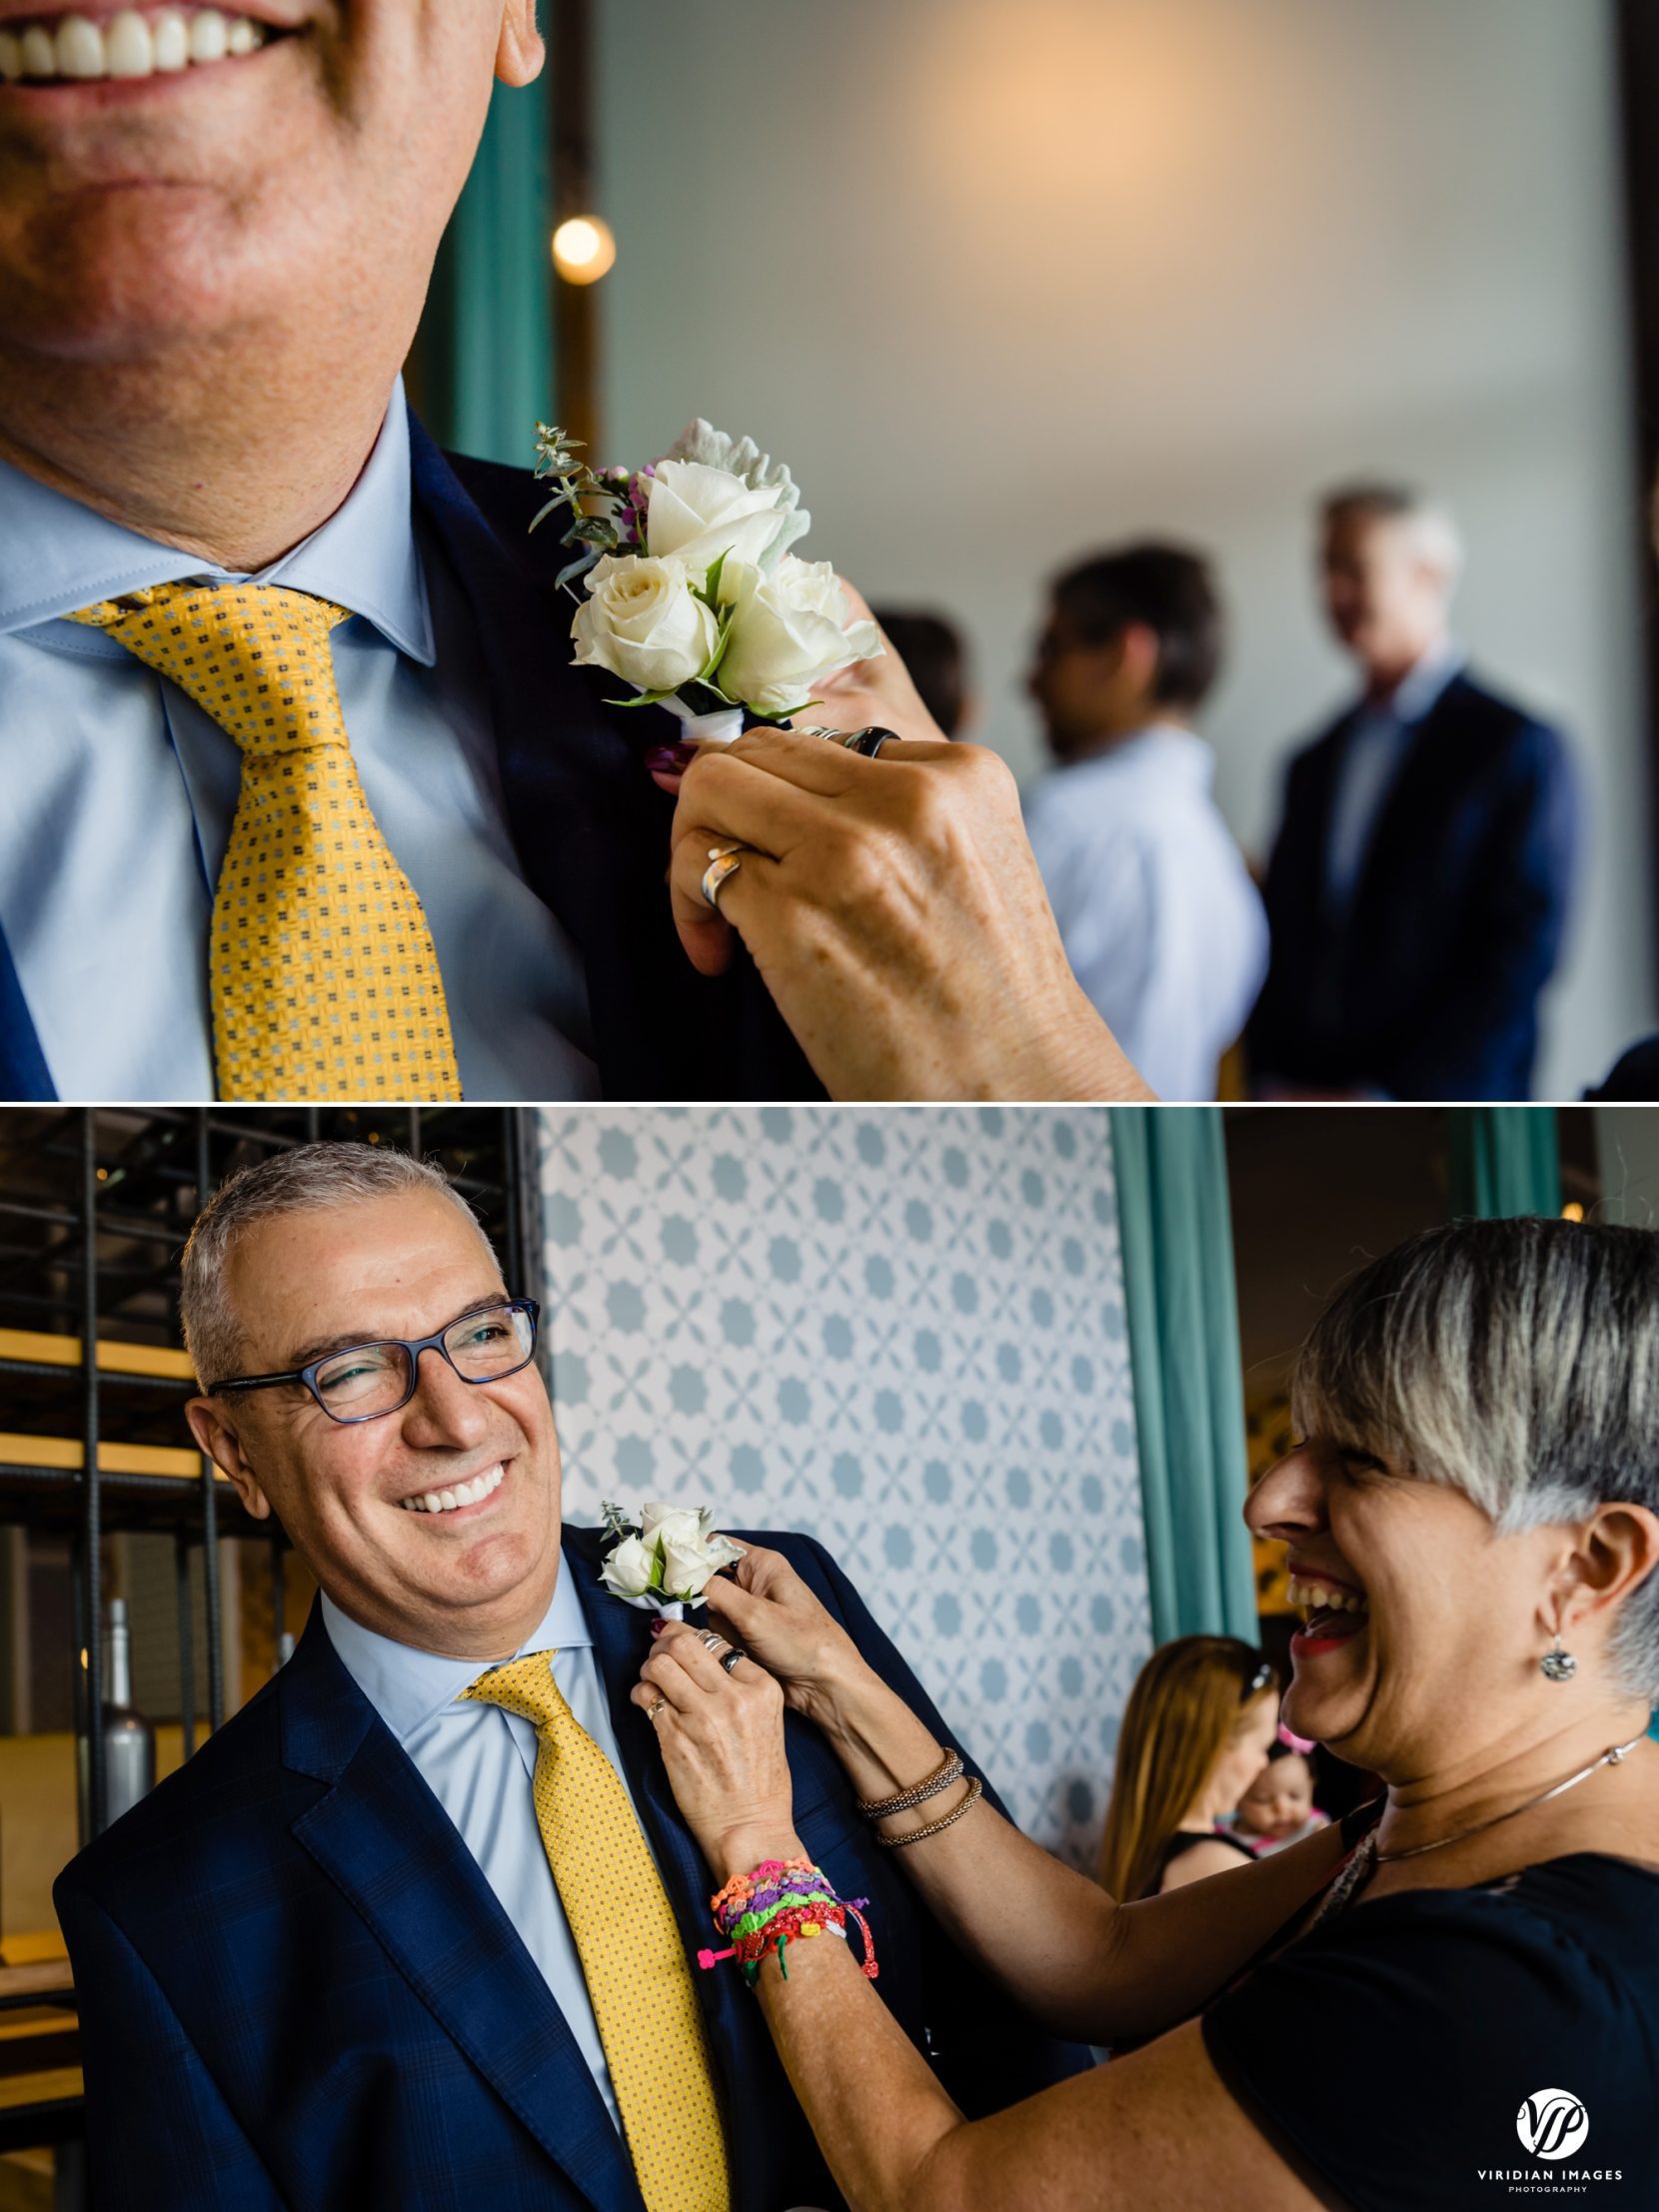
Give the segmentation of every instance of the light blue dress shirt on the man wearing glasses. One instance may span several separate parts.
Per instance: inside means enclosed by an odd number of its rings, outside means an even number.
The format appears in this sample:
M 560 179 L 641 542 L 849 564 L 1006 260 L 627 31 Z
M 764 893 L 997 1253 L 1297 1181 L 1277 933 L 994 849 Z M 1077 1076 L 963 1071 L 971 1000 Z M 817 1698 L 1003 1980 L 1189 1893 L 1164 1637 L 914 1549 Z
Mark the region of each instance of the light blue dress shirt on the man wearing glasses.
M 460 1692 L 498 1659 L 442 1659 L 361 1628 L 323 1597 L 323 1626 L 341 1666 L 367 1697 L 385 1725 L 414 1759 L 422 1781 L 460 1829 L 460 1840 L 478 1860 L 502 1911 L 524 1938 L 524 1949 L 542 1969 L 542 1980 L 575 2035 L 606 2110 L 622 2128 L 617 2093 L 582 1978 L 582 1960 L 564 1918 L 542 1832 L 535 1825 L 531 1783 L 535 1778 L 535 1728 L 500 1705 L 460 1703 Z M 560 1579 L 546 1619 L 513 1652 L 553 1652 L 553 1681 L 564 1703 L 593 1736 L 622 1787 L 617 1739 L 611 1728 L 604 1681 L 593 1657 L 593 1637 L 582 1617 L 582 1599 L 571 1568 L 560 1559 Z M 628 1792 L 633 1805 L 633 1792 Z M 635 1807 L 637 1818 L 637 1807 Z M 644 1834 L 644 1832 L 641 1832 Z

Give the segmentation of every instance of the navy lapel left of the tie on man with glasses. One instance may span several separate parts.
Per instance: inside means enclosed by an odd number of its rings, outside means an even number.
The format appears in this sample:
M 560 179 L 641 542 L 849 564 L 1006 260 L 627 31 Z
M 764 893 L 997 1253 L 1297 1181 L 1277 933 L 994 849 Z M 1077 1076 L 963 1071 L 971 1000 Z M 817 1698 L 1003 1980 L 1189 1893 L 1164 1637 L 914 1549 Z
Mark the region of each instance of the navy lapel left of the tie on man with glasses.
M 595 2212 L 641 2212 L 628 2152 L 535 1962 L 414 1761 L 327 1641 L 279 1677 L 283 1761 L 330 1783 L 294 1838 Z

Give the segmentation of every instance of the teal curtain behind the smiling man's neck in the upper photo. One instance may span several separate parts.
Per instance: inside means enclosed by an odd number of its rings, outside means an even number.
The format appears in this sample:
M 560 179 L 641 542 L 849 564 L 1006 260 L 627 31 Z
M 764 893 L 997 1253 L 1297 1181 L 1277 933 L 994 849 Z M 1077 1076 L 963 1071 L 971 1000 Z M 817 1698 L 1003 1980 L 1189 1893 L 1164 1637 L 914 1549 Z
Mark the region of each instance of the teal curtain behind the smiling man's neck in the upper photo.
M 538 418 L 555 420 L 551 237 L 546 88 L 498 84 L 409 358 L 440 445 L 529 467 Z

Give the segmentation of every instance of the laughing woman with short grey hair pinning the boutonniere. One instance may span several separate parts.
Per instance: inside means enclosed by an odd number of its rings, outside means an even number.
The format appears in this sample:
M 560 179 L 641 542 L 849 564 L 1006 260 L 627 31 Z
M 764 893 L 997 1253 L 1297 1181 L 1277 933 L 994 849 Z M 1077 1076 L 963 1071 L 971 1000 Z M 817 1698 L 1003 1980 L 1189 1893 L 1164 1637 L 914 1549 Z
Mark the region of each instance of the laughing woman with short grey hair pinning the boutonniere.
M 1387 1794 L 1234 1874 L 1115 1905 L 1057 1865 L 772 1553 L 710 1588 L 759 1668 L 661 1628 L 635 1699 L 750 1920 L 750 1871 L 803 1856 L 792 1705 L 962 1949 L 1124 2053 L 964 2121 L 847 1944 L 790 1942 L 785 1978 L 750 1931 L 856 2212 L 1659 2203 L 1659 1234 L 1416 1237 L 1327 1307 L 1292 1405 L 1245 1513 L 1307 1608 L 1285 1721 Z

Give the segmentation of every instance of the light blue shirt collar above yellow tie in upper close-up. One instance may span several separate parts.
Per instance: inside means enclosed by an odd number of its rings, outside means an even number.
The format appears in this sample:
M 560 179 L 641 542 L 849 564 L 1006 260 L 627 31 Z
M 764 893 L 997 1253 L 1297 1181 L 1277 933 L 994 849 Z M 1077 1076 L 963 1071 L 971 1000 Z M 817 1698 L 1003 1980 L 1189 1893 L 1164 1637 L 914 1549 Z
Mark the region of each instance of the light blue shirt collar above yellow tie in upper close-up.
M 181 577 L 288 584 L 334 599 L 372 622 L 398 653 L 431 666 L 436 646 L 414 540 L 403 378 L 345 500 L 310 538 L 252 577 L 144 538 L 0 460 L 0 637 L 142 584 Z

